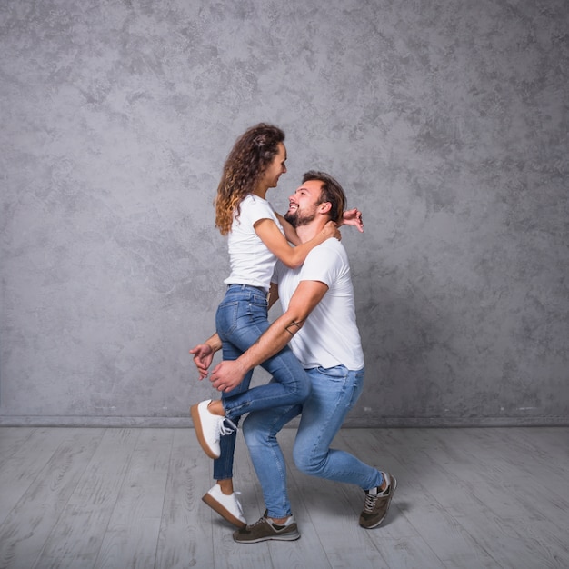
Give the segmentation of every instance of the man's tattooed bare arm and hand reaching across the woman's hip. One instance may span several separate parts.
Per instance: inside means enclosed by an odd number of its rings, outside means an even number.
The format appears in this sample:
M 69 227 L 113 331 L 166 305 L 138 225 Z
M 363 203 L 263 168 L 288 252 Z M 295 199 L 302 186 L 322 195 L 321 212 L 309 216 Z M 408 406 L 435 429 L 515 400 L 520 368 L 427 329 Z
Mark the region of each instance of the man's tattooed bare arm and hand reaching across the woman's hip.
M 210 377 L 213 386 L 219 391 L 234 389 L 249 370 L 280 352 L 303 327 L 306 318 L 327 290 L 328 285 L 321 281 L 301 281 L 286 312 L 269 326 L 245 354 L 236 360 L 224 361 L 215 366 Z

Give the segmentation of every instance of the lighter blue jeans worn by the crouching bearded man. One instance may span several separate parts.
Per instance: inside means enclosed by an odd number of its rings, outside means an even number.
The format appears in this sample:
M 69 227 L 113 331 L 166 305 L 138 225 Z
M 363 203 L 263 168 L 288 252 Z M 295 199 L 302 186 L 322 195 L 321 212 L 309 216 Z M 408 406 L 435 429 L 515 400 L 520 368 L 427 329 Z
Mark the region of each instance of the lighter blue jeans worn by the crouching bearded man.
M 362 393 L 364 370 L 344 365 L 306 370 L 312 391 L 304 405 L 288 405 L 249 414 L 243 424 L 255 472 L 263 488 L 269 517 L 292 514 L 286 490 L 286 466 L 276 434 L 302 412 L 294 441 L 294 464 L 305 474 L 356 484 L 363 490 L 379 486 L 383 475 L 354 455 L 331 449 L 335 434 Z

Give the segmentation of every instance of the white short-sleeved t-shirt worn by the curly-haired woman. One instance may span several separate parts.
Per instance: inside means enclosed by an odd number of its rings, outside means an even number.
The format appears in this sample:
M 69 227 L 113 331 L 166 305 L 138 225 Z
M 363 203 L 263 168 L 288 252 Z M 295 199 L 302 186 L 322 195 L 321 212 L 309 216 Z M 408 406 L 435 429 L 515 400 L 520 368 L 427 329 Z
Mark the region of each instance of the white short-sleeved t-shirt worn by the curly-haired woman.
M 284 234 L 273 207 L 258 195 L 246 195 L 241 202 L 241 215 L 234 213 L 231 232 L 227 237 L 231 275 L 225 284 L 251 284 L 269 290 L 276 257 L 255 233 L 255 223 L 272 219 Z

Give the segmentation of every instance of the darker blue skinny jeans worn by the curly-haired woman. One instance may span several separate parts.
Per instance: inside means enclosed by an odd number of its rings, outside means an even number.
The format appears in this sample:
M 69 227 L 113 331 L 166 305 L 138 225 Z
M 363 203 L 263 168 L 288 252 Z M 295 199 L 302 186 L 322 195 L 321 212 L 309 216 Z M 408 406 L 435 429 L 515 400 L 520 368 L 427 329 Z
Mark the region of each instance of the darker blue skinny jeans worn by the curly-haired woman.
M 230 284 L 215 314 L 215 328 L 222 340 L 224 360 L 235 360 L 269 327 L 266 294 L 247 284 Z M 303 403 L 310 380 L 292 350 L 285 346 L 262 366 L 273 376 L 265 385 L 249 389 L 253 371 L 230 392 L 223 392 L 225 416 L 235 424 L 242 414 L 280 405 Z M 221 455 L 214 461 L 215 480 L 233 477 L 235 432 L 221 437 Z

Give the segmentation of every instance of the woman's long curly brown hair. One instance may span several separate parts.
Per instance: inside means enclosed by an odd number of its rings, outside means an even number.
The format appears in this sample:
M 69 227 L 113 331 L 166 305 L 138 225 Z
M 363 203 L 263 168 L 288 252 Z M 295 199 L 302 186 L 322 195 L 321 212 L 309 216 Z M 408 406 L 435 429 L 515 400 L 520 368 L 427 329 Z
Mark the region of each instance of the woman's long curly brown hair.
M 234 211 L 241 214 L 245 195 L 255 187 L 284 142 L 284 132 L 274 125 L 252 126 L 235 142 L 225 160 L 221 181 L 215 197 L 215 227 L 221 235 L 231 231 Z

